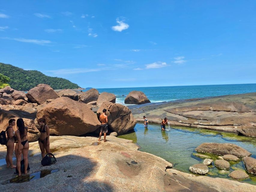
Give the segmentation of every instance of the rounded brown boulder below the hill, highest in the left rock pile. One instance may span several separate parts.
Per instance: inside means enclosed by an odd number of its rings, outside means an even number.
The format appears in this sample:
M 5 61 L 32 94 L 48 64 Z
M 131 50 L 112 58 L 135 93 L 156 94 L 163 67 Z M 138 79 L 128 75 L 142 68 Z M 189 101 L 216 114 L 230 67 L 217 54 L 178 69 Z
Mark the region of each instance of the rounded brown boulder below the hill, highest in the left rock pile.
M 37 104 L 43 104 L 47 99 L 56 99 L 59 97 L 53 88 L 47 84 L 37 85 L 30 89 L 26 96 L 31 103 Z

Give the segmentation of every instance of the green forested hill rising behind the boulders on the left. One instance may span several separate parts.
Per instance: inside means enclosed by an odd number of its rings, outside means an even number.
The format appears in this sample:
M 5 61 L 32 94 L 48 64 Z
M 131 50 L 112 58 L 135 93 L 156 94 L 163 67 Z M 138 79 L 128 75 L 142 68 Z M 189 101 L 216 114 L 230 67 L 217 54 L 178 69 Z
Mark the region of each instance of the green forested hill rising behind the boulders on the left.
M 11 64 L 0 63 L 0 73 L 10 77 L 11 88 L 28 91 L 40 83 L 50 85 L 53 89 L 79 88 L 75 83 L 59 77 L 50 77 L 37 70 L 23 70 Z

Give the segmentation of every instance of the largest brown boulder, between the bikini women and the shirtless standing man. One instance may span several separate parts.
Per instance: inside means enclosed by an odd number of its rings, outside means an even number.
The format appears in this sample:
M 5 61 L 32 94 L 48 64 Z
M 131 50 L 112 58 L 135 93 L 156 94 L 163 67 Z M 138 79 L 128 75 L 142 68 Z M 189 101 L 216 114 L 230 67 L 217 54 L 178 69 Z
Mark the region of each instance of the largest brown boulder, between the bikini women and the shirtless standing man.
M 93 132 L 101 125 L 90 108 L 87 104 L 61 97 L 40 109 L 37 119 L 46 119 L 50 134 L 79 136 Z

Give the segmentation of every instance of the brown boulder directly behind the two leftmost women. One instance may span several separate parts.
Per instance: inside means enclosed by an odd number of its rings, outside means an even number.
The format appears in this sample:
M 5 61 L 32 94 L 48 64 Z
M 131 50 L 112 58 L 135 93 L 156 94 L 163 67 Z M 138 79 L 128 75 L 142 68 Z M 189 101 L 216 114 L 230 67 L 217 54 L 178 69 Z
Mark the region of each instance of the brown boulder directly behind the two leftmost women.
M 22 116 L 19 116 L 18 114 L 12 111 L 0 110 L 0 132 L 2 130 L 5 131 L 5 129 L 9 125 L 8 121 L 10 119 L 15 119 L 17 121 L 17 119 L 19 118 L 23 119 L 25 126 L 28 128 L 29 142 L 37 141 L 39 138 L 39 131 L 35 126 L 34 120 L 23 118 Z M 16 126 L 14 128 L 14 131 L 16 131 Z

